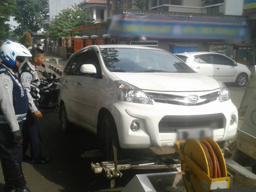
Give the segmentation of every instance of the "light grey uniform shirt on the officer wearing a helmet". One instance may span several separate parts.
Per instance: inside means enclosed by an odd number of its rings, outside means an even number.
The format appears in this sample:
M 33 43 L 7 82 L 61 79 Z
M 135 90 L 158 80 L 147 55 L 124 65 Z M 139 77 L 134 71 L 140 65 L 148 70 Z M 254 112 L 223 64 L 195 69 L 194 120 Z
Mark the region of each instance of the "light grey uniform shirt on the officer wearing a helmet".
M 8 67 L 6 68 L 9 69 Z M 9 70 L 12 71 L 11 69 Z M 13 75 L 15 74 L 13 73 Z M 5 114 L 3 118 L 6 119 L 7 123 L 11 127 L 12 132 L 18 131 L 19 124 L 15 117 L 15 111 L 13 107 L 13 81 L 11 80 L 11 77 L 5 73 L 0 74 L 0 93 L 0 106 L 3 114 Z

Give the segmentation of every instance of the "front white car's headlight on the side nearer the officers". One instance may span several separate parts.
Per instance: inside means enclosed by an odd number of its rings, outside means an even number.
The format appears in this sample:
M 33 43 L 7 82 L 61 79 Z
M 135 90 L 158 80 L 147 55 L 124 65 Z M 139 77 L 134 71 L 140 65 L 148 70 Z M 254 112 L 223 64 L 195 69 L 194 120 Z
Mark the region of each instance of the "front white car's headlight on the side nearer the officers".
M 137 87 L 123 81 L 115 81 L 114 83 L 120 91 L 118 100 L 153 105 L 150 97 Z

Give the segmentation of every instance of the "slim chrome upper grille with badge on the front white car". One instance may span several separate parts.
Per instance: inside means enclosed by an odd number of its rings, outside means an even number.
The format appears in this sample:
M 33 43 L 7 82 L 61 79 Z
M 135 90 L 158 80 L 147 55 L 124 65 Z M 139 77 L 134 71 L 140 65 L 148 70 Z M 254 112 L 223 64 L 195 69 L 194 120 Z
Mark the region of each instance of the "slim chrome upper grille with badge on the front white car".
M 200 96 L 199 101 L 197 103 L 191 103 L 185 96 L 153 93 L 153 92 L 147 92 L 147 94 L 150 95 L 150 98 L 153 99 L 154 102 L 167 103 L 172 105 L 183 105 L 183 106 L 205 105 L 206 103 L 216 101 L 220 95 L 219 91 L 215 91 L 213 93 Z

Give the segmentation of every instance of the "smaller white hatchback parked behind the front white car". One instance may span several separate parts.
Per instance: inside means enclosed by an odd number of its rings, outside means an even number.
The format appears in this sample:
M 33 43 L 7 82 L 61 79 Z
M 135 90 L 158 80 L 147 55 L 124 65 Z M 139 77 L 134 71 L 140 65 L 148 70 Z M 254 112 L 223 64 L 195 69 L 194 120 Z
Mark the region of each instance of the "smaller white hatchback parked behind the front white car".
M 247 66 L 223 54 L 191 52 L 175 55 L 198 73 L 224 83 L 234 82 L 239 87 L 245 86 L 251 75 Z

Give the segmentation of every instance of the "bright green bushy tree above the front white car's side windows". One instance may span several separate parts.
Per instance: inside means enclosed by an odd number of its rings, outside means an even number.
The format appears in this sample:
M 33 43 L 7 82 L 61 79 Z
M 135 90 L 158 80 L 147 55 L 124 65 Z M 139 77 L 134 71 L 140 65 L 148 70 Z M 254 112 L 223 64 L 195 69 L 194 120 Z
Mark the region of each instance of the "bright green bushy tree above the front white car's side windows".
M 81 9 L 77 5 L 71 9 L 62 10 L 49 26 L 49 38 L 62 38 L 71 35 L 70 31 L 63 32 L 63 29 L 72 29 L 74 27 L 89 25 L 94 23 L 93 19 L 86 18 L 86 9 Z M 80 31 L 74 31 L 74 35 L 81 35 Z

